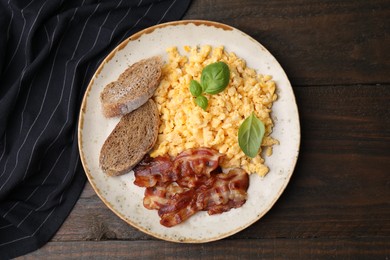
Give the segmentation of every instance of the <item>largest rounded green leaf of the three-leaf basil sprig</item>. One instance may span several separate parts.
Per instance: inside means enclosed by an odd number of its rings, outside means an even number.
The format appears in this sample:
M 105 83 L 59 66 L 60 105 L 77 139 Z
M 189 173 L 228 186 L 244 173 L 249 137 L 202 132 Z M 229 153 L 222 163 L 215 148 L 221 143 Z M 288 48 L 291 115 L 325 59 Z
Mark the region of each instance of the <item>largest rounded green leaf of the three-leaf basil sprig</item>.
M 200 76 L 203 91 L 208 94 L 217 94 L 223 91 L 229 84 L 229 80 L 229 66 L 222 61 L 204 67 Z

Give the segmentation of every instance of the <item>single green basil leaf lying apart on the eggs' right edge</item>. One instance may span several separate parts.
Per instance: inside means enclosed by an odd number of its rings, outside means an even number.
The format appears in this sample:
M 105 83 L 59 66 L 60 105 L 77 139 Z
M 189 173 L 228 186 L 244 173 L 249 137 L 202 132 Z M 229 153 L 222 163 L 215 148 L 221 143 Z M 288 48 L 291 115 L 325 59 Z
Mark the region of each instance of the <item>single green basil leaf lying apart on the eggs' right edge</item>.
M 238 145 L 247 156 L 254 158 L 259 152 L 264 133 L 263 122 L 252 112 L 238 129 Z

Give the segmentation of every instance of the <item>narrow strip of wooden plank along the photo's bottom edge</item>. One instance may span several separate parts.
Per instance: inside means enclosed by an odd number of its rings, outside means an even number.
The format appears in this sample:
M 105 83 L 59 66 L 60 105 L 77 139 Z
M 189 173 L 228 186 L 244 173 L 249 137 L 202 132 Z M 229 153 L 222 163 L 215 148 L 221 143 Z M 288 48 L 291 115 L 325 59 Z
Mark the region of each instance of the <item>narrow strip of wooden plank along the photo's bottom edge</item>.
M 236 239 L 201 245 L 164 241 L 50 242 L 20 259 L 387 259 L 389 254 L 390 241 L 386 238 Z

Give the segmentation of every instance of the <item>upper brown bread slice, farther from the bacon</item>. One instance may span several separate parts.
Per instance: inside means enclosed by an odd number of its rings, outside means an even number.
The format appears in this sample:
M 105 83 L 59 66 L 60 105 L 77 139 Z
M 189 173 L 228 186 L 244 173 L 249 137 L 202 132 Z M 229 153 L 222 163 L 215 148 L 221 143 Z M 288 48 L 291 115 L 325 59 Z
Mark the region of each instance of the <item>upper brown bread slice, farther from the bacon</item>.
M 162 66 L 160 56 L 140 60 L 106 85 L 100 93 L 103 114 L 121 116 L 144 104 L 160 83 Z

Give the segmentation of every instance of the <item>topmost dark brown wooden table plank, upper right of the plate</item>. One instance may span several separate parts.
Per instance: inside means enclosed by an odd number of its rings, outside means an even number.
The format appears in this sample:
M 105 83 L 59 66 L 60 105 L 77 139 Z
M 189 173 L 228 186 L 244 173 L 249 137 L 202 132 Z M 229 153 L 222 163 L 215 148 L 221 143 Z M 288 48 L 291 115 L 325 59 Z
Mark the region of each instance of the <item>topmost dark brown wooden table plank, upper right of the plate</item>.
M 223 22 L 249 34 L 295 85 L 390 83 L 387 0 L 197 0 L 184 19 Z

